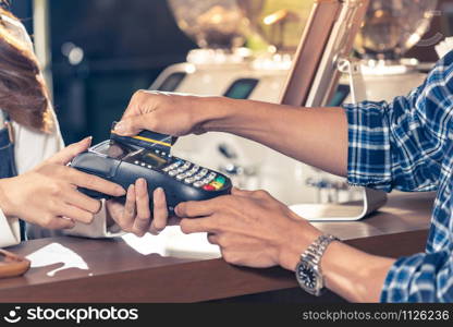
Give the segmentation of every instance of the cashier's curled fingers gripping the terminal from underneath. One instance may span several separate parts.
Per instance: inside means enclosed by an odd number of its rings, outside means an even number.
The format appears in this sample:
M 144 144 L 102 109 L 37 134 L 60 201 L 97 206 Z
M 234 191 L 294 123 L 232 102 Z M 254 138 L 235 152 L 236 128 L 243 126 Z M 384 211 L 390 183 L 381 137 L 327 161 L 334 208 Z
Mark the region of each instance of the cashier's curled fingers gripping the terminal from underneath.
M 106 203 L 107 218 L 114 220 L 122 230 L 143 237 L 146 232 L 158 234 L 168 222 L 166 195 L 162 189 L 152 193 L 152 216 L 149 209 L 148 189 L 145 179 L 138 179 L 127 189 L 126 201 L 110 199 Z

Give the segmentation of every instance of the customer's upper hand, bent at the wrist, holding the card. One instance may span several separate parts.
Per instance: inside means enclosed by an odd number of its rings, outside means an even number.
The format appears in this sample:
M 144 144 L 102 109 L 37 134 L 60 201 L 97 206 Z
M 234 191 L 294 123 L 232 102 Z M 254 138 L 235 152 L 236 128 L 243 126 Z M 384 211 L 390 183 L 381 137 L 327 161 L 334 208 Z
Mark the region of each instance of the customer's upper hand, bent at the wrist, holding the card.
M 142 130 L 173 136 L 205 133 L 209 98 L 138 90 L 115 126 L 121 135 L 136 135 Z M 212 108 L 218 110 L 217 108 Z

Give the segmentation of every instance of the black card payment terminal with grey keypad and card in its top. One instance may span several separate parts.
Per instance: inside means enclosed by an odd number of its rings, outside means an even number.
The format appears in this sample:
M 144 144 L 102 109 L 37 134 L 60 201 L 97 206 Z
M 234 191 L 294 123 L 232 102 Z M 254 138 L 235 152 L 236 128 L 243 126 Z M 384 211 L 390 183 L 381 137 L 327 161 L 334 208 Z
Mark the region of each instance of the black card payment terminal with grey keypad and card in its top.
M 71 167 L 120 184 L 124 190 L 144 178 L 150 196 L 155 189 L 163 189 L 170 211 L 181 202 L 210 199 L 231 192 L 232 183 L 226 175 L 172 156 L 174 141 L 172 136 L 149 131 L 133 137 L 112 132 L 110 140 L 77 155 Z M 109 198 L 90 190 L 81 192 Z

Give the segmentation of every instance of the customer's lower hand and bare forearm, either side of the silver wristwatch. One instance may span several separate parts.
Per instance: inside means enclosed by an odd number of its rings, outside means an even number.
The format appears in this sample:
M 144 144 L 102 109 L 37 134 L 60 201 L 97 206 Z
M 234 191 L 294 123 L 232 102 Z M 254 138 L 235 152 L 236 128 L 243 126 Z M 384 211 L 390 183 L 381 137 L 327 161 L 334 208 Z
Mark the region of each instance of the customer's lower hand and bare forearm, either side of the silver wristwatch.
M 294 270 L 301 254 L 321 234 L 264 191 L 233 189 L 232 195 L 182 203 L 175 211 L 187 217 L 181 221 L 183 232 L 208 232 L 209 242 L 220 246 L 223 258 L 241 266 L 280 265 Z M 333 242 L 322 257 L 321 268 L 333 292 L 348 301 L 376 302 L 393 263 Z

